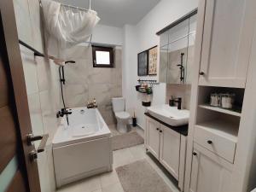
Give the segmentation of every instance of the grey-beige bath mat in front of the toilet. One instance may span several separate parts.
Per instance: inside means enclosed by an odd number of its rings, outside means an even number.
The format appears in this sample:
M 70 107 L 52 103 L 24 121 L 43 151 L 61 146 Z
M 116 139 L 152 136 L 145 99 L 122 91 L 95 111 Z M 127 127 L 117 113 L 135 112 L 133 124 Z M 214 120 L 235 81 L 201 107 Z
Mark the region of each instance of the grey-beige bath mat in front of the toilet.
M 144 143 L 143 137 L 141 137 L 137 131 L 131 131 L 121 135 L 112 137 L 112 149 L 113 151 L 122 148 L 130 148 L 132 146 L 140 145 Z

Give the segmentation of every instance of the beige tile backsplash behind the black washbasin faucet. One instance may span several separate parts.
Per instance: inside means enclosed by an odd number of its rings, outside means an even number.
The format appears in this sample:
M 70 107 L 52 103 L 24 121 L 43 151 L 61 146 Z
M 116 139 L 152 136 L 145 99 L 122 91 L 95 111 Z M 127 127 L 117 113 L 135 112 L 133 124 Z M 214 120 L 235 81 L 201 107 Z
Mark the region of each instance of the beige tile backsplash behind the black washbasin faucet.
M 166 84 L 166 103 L 171 96 L 182 97 L 182 108 L 189 109 L 191 85 L 190 84 Z

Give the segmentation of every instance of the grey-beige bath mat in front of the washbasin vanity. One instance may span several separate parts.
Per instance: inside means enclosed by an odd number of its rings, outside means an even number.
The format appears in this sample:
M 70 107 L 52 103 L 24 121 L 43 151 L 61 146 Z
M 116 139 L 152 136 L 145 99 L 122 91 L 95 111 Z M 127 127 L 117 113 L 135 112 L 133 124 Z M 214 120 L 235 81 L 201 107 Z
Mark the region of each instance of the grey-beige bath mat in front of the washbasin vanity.
M 172 192 L 146 160 L 115 169 L 125 192 Z

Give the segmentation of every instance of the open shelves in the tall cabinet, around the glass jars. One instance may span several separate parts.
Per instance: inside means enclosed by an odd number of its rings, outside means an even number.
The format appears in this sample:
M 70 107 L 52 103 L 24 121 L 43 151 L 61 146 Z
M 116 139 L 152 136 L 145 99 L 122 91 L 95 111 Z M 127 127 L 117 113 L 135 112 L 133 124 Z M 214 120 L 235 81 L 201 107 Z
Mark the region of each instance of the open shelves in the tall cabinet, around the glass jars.
M 237 142 L 244 89 L 199 86 L 199 93 L 195 129 L 200 127 Z M 210 106 L 212 93 L 234 93 L 236 95 L 235 107 L 226 109 Z

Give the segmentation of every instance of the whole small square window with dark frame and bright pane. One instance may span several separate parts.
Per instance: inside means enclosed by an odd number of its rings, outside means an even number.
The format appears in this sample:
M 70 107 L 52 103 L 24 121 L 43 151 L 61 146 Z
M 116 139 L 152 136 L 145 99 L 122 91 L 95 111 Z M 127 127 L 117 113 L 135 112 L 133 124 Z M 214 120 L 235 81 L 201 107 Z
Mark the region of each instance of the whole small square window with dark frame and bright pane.
M 93 67 L 113 68 L 113 48 L 92 46 Z

